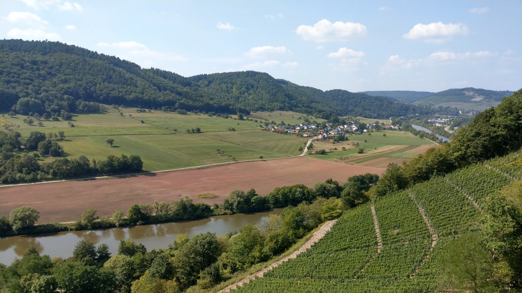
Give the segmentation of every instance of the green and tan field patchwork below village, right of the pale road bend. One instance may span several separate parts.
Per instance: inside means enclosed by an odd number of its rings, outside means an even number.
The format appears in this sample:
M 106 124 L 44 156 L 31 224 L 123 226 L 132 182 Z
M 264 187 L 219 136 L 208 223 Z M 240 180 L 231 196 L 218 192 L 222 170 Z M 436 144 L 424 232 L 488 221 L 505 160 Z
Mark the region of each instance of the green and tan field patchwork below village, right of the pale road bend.
M 386 137 L 383 134 L 386 134 Z M 411 150 L 421 145 L 434 145 L 429 140 L 420 139 L 405 131 L 379 131 L 353 135 L 348 138 L 348 141 L 335 144 L 330 141 L 314 141 L 314 150 L 324 149 L 327 153 L 324 155 L 307 154 L 307 156 L 364 165 L 364 162 L 383 157 L 401 158 L 407 161 L 415 155 L 411 153 Z M 357 153 L 358 147 L 352 145 L 354 142 L 359 143 L 359 148 L 364 148 L 362 154 Z M 346 150 L 342 150 L 343 146 Z M 330 151 L 333 148 L 337 148 L 337 151 Z

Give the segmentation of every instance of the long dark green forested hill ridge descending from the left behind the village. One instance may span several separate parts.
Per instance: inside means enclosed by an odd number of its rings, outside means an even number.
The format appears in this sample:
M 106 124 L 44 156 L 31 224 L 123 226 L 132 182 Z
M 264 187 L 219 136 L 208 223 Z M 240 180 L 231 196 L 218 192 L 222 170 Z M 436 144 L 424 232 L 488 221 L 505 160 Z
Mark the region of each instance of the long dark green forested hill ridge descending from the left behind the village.
M 325 118 L 452 114 L 388 97 L 323 92 L 254 71 L 187 78 L 60 42 L 2 40 L 0 60 L 0 111 L 22 115 L 96 109 L 88 102 L 229 114 L 288 110 Z

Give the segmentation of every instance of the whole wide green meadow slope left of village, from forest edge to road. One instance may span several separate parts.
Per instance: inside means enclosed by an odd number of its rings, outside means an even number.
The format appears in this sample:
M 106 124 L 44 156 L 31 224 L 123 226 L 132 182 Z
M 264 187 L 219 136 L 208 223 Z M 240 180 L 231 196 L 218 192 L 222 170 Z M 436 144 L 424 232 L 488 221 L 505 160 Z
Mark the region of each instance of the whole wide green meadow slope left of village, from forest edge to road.
M 261 131 L 254 121 L 191 113 L 138 113 L 136 108 L 121 111 L 123 115 L 114 109 L 106 114 L 74 115 L 75 127 L 69 127 L 67 121 L 43 121 L 44 126 L 38 127 L 24 124 L 20 116 L 4 119 L 20 125 L 16 131 L 25 137 L 31 131 L 64 131 L 67 139 L 60 144 L 69 158 L 85 155 L 99 161 L 109 154 L 136 154 L 144 161 L 144 170 L 149 171 L 224 163 L 234 158 L 239 161 L 298 155 L 299 147 L 306 142 L 304 138 Z M 196 127 L 203 133 L 186 133 L 187 128 Z M 106 143 L 109 137 L 115 141 L 112 147 Z M 50 160 L 54 158 L 42 159 Z

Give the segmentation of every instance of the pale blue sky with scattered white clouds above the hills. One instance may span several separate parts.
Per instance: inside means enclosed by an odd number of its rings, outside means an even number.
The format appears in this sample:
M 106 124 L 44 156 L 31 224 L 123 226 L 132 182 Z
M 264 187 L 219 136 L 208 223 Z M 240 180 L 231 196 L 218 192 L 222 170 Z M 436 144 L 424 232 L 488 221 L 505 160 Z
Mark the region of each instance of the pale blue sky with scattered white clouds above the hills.
M 522 1 L 0 0 L 0 39 L 321 90 L 522 88 Z M 1 60 L 0 60 L 1 61 Z

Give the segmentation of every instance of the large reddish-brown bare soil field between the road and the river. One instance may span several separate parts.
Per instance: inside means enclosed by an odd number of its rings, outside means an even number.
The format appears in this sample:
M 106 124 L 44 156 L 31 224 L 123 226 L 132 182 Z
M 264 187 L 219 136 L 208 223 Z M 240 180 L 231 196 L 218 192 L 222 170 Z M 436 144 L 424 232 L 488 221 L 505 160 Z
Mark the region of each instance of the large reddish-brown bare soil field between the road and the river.
M 353 175 L 368 172 L 382 175 L 384 171 L 381 167 L 294 157 L 120 179 L 9 186 L 0 188 L 0 215 L 8 217 L 11 210 L 30 205 L 40 211 L 39 223 L 66 222 L 79 218 L 87 209 L 98 210 L 99 216 L 112 215 L 116 209 L 126 211 L 133 204 L 171 202 L 185 196 L 194 202 L 220 204 L 234 189 L 254 188 L 258 194 L 266 195 L 280 186 L 312 187 L 328 178 L 342 184 Z M 203 193 L 218 197 L 196 198 Z

